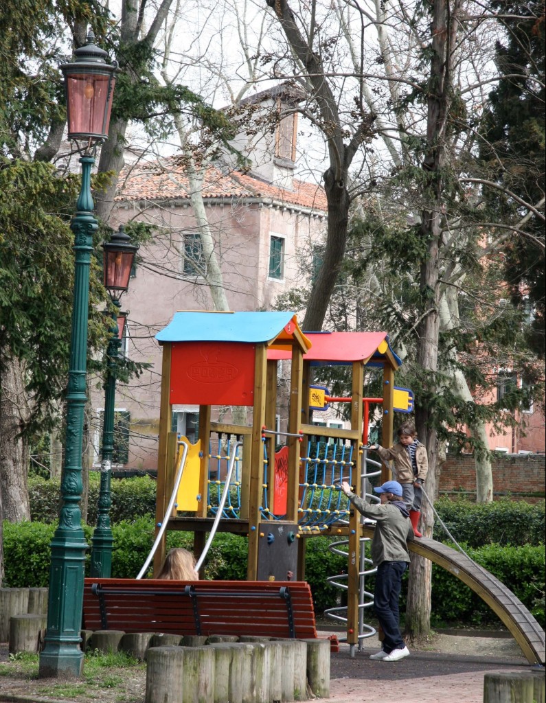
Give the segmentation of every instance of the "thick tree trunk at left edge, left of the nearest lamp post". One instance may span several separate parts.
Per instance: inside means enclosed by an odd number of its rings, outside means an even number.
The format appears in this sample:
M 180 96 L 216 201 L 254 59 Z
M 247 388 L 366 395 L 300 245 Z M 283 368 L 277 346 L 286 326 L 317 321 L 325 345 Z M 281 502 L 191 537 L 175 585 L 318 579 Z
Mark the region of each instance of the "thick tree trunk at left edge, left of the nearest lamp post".
M 30 520 L 27 488 L 29 447 L 21 432 L 30 414 L 18 359 L 4 357 L 0 387 L 0 494 L 4 520 Z

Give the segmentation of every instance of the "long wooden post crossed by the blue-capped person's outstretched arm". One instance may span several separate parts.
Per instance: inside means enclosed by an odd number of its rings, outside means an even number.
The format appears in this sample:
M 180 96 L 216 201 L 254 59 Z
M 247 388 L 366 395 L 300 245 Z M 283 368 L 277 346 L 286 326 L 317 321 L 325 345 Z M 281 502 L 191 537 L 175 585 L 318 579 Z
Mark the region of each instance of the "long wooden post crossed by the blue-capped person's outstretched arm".
M 350 426 L 352 430 L 362 430 L 362 393 L 364 387 L 364 366 L 353 363 L 353 387 L 351 389 Z M 353 440 L 353 484 L 357 496 L 361 494 L 362 450 L 360 439 Z M 347 594 L 347 641 L 358 644 L 358 601 L 360 588 L 360 512 L 351 508 L 349 518 L 349 563 Z

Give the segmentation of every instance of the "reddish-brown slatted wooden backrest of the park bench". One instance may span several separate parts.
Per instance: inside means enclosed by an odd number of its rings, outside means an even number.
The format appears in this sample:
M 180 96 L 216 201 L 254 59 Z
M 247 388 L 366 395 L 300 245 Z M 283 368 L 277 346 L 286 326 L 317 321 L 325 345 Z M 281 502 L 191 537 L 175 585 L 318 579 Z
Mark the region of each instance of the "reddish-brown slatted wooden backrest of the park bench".
M 317 638 L 305 581 L 85 579 L 89 630 Z

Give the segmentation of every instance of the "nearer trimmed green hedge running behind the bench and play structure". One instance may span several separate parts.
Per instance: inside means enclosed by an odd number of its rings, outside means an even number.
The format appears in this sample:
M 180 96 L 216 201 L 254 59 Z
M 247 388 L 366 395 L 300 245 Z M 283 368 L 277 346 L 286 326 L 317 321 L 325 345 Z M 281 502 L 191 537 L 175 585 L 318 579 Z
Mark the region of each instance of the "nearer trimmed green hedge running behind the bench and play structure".
M 55 524 L 4 522 L 4 587 L 47 586 L 49 581 L 50 543 Z M 114 549 L 112 576 L 134 578 L 144 564 L 153 544 L 153 520 L 139 518 L 120 522 L 112 528 Z M 87 541 L 91 528 L 84 525 Z M 339 605 L 340 591 L 326 583 L 327 576 L 341 574 L 347 567 L 345 558 L 328 550 L 330 538 L 310 538 L 306 541 L 306 578 L 310 583 L 317 614 L 328 607 Z M 192 548 L 191 534 L 170 531 L 167 548 Z M 542 546 L 511 547 L 488 545 L 465 551 L 476 562 L 497 576 L 523 602 L 542 627 L 545 626 L 545 557 Z M 246 579 L 248 542 L 234 534 L 217 534 L 205 565 L 205 577 L 243 581 Z M 89 553 L 87 555 L 89 569 Z M 366 582 L 367 591 L 373 591 L 373 576 Z M 400 610 L 405 610 L 405 591 L 402 591 Z M 343 595 L 343 594 L 342 594 Z M 497 623 L 490 608 L 471 589 L 441 567 L 433 565 L 432 621 L 459 621 L 466 624 Z

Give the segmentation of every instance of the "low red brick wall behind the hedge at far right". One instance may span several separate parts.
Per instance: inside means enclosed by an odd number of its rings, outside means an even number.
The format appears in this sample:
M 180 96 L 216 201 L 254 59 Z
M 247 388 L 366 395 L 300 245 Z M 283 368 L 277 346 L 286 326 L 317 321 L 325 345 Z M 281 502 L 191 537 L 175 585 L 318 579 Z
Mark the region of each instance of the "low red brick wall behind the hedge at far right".
M 492 461 L 495 498 L 545 496 L 544 455 L 496 455 Z M 448 456 L 440 472 L 440 495 L 476 494 L 476 464 L 472 454 Z

